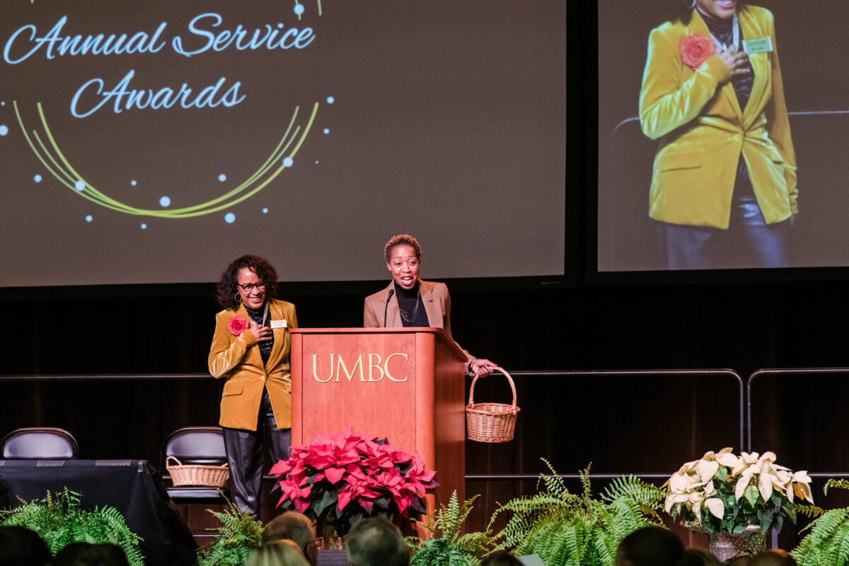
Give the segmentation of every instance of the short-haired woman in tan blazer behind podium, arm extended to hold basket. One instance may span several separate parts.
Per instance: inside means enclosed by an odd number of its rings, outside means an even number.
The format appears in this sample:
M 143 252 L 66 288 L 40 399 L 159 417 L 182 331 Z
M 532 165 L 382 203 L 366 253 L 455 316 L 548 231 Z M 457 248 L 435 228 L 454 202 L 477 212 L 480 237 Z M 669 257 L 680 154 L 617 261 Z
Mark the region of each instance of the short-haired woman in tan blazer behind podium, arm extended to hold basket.
M 419 279 L 421 255 L 419 241 L 409 234 L 398 234 L 386 243 L 384 257 L 392 281 L 386 289 L 366 297 L 365 328 L 442 328 L 447 338 L 453 340 L 447 285 Z M 466 350 L 463 352 L 468 360 L 466 373 L 477 377 L 492 373 L 495 367 L 492 361 L 475 358 Z

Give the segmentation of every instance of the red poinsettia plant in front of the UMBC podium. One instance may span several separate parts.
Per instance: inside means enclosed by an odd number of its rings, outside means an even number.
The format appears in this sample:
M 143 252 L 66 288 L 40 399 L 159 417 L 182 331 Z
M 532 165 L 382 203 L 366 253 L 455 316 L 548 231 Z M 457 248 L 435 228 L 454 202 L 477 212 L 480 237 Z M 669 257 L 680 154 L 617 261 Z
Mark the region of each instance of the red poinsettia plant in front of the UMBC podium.
M 309 445 L 271 468 L 280 476 L 278 507 L 304 513 L 344 536 L 362 517 L 408 518 L 424 513 L 424 490 L 434 488 L 433 470 L 386 439 L 357 434 L 318 434 Z

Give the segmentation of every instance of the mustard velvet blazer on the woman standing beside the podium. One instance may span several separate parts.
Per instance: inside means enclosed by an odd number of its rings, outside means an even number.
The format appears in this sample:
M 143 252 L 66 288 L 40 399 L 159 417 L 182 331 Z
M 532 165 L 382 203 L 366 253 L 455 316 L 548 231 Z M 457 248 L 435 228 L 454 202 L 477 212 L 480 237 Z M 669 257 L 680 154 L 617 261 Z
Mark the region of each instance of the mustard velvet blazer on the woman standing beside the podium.
M 250 330 L 239 336 L 230 333 L 233 317 L 250 322 L 245 305 L 233 311 L 226 309 L 216 314 L 215 335 L 212 337 L 209 368 L 215 378 L 227 378 L 221 398 L 219 424 L 228 429 L 256 430 L 262 389 L 274 411 L 278 429 L 292 426 L 292 374 L 289 354 L 292 340 L 289 328 L 298 328 L 295 305 L 284 300 L 268 300 L 271 320 L 285 320 L 287 328 L 273 328 L 274 345 L 271 356 L 263 364 L 256 337 Z

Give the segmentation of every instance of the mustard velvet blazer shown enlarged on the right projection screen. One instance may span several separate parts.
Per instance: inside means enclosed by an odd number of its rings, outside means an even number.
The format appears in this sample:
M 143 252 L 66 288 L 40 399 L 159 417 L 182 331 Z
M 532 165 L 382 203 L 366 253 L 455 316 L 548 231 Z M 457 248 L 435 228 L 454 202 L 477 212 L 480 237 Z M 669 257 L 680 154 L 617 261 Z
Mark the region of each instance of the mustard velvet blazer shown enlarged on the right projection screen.
M 755 80 L 745 109 L 722 60 L 713 56 L 694 70 L 681 59 L 684 36 L 711 37 L 698 10 L 689 25 L 667 22 L 651 31 L 639 120 L 646 136 L 661 140 L 649 195 L 649 216 L 655 220 L 728 228 L 741 156 L 767 224 L 797 212 L 796 154 L 773 14 L 746 6 L 738 19 L 743 39 L 773 41 L 771 53 L 749 57 Z

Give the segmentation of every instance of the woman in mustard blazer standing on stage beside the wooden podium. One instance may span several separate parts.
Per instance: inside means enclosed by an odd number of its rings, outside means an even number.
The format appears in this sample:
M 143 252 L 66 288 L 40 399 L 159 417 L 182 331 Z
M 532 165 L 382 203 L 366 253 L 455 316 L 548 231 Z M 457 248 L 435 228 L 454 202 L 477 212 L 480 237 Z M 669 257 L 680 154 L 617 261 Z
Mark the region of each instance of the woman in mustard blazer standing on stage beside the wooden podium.
M 262 451 L 288 458 L 292 443 L 289 328 L 295 305 L 274 299 L 277 272 L 257 255 L 233 261 L 218 282 L 215 335 L 209 356 L 213 377 L 227 378 L 221 400 L 230 490 L 239 510 L 259 513 Z

